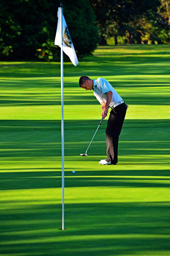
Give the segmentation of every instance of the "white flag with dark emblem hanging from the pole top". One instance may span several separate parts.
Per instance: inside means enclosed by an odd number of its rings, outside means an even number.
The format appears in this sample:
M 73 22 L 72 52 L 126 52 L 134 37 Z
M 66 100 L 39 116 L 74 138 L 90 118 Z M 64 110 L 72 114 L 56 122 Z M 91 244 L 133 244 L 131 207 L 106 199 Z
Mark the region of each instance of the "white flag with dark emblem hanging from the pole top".
M 61 47 L 62 45 L 62 38 L 63 38 L 63 52 L 65 52 L 65 54 L 67 54 L 71 60 L 71 62 L 73 63 L 74 66 L 78 65 L 78 58 L 74 49 L 74 45 L 72 43 L 71 40 L 71 36 L 69 33 L 69 30 L 67 28 L 67 24 L 66 21 L 64 19 L 64 15 L 63 15 L 63 36 L 61 36 L 61 29 L 60 29 L 60 12 L 58 12 L 58 23 L 57 23 L 57 31 L 56 31 L 56 35 L 55 35 L 55 45 L 58 45 Z

